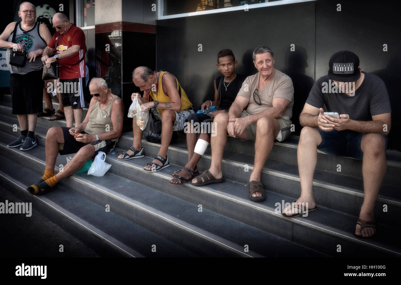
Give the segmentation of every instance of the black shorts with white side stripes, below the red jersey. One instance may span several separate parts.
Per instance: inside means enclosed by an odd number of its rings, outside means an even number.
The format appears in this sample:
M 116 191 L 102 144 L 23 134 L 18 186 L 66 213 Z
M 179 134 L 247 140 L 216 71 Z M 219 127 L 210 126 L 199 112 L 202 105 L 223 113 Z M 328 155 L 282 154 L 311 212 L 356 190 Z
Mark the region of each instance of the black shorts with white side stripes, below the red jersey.
M 85 108 L 85 77 L 60 79 L 59 81 L 63 106 L 71 106 L 73 109 Z

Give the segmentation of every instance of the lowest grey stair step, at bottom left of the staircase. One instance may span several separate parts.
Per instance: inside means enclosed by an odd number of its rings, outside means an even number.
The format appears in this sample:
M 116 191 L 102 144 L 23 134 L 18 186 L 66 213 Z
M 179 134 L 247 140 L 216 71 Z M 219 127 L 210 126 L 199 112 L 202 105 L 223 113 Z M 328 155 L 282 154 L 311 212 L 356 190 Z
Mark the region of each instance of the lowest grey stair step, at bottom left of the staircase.
M 77 236 L 85 244 L 109 257 L 195 256 L 184 248 L 115 214 L 106 212 L 68 187 L 57 185 L 57 191 L 43 196 L 31 195 L 26 188 L 41 175 L 21 167 L 6 157 L 0 165 L 0 179 L 23 201 Z M 32 217 L 34 218 L 34 217 Z M 152 244 L 157 245 L 152 252 Z

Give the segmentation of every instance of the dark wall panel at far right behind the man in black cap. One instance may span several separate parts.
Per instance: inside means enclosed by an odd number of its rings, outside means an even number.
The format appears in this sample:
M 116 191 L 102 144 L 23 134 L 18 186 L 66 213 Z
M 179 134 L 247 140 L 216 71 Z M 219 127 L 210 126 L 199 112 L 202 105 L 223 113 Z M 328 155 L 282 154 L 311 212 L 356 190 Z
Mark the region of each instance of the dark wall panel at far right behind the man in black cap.
M 326 75 L 330 56 L 349 50 L 360 59 L 363 71 L 378 75 L 386 84 L 391 102 L 392 127 L 389 148 L 401 150 L 401 37 L 399 28 L 400 2 L 363 1 L 316 2 L 316 79 Z M 383 51 L 387 44 L 388 51 Z

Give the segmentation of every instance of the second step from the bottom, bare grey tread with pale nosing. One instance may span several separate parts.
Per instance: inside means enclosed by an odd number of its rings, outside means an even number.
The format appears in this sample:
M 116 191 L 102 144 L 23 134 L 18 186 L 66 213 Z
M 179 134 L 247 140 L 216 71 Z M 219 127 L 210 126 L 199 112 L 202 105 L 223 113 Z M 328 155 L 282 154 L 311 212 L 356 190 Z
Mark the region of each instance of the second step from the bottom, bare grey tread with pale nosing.
M 44 149 L 41 147 L 32 149 L 29 154 L 10 149 L 4 149 L 4 152 L 23 167 L 34 171 L 44 169 L 45 162 L 40 158 Z M 60 156 L 56 165 L 63 162 L 65 157 Z M 117 214 L 167 236 L 201 256 L 295 256 L 294 252 L 302 256 L 324 256 L 207 209 L 199 212 L 197 205 L 111 173 L 103 177 L 76 174 L 63 180 L 61 185 L 99 205 L 107 203 Z M 191 236 L 194 234 L 195 238 Z M 212 248 L 205 244 L 205 239 L 213 243 Z M 249 252 L 244 252 L 245 244 Z

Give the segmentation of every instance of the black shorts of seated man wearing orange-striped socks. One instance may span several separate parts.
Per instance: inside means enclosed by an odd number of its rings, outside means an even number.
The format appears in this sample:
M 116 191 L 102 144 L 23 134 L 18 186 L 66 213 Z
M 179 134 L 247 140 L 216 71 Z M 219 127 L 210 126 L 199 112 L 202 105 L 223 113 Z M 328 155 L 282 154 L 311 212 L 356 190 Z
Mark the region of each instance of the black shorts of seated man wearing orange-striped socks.
M 83 143 L 77 141 L 74 136 L 72 136 L 69 132 L 70 128 L 61 127 L 63 130 L 64 136 L 64 144 L 59 144 L 59 154 L 61 155 L 69 155 L 71 153 L 77 153 L 81 147 L 85 145 L 93 145 L 95 147 L 95 154 L 93 155 L 92 159 L 95 158 L 99 151 L 103 151 L 103 153 L 109 153 L 115 148 L 117 141 L 111 140 L 99 140 L 95 142 Z M 85 134 L 85 132 L 81 132 L 81 134 Z

